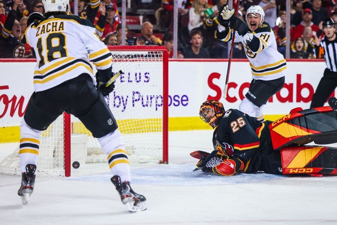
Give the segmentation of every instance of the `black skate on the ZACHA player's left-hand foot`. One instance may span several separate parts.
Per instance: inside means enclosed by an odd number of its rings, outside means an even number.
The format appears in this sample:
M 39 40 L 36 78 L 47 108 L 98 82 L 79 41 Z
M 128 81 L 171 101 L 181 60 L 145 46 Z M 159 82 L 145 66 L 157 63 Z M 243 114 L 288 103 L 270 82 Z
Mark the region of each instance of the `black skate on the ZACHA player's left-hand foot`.
M 36 165 L 27 164 L 26 173 L 22 173 L 21 187 L 18 190 L 18 195 L 21 197 L 22 204 L 26 205 L 29 196 L 33 193 L 35 183 Z

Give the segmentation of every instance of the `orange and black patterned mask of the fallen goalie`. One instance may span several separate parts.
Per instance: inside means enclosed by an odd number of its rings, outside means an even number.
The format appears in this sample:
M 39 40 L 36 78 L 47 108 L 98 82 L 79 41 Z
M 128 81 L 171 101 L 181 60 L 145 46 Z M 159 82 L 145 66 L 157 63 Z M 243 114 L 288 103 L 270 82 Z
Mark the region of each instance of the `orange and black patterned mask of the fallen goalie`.
M 219 119 L 225 112 L 221 102 L 216 100 L 205 101 L 199 110 L 200 118 L 213 129 L 219 124 Z

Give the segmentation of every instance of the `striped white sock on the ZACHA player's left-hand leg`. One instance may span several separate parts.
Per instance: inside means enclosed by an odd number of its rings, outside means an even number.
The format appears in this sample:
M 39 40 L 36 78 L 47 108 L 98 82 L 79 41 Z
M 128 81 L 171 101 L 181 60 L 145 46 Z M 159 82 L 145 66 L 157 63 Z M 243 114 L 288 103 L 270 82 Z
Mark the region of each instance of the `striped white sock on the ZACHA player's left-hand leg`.
M 27 164 L 37 165 L 42 131 L 35 130 L 23 119 L 20 126 L 20 170 L 26 172 Z

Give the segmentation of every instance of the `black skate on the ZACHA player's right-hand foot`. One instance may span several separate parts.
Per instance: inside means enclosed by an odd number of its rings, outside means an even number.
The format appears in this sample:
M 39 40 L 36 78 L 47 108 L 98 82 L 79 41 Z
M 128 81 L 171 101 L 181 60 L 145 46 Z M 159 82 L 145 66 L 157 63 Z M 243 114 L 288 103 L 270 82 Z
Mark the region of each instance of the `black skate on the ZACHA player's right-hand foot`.
M 116 190 L 121 196 L 122 203 L 127 206 L 128 211 L 137 212 L 146 210 L 146 198 L 134 192 L 128 181 L 121 182 L 120 176 L 115 175 L 111 182 L 116 186 Z

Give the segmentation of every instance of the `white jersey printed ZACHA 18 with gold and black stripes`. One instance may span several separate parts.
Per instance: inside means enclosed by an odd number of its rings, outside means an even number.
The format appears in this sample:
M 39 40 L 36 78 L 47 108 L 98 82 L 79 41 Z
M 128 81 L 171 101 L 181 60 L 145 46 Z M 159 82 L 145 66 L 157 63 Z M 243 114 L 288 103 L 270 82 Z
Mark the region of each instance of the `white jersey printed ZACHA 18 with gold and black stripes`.
M 78 16 L 57 15 L 36 21 L 25 33 L 37 57 L 34 72 L 36 92 L 55 87 L 83 73 L 89 74 L 95 83 L 89 60 L 98 70 L 112 65 L 111 53 L 99 40 L 92 23 Z

